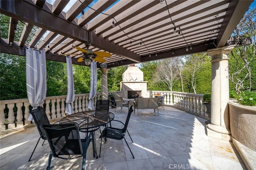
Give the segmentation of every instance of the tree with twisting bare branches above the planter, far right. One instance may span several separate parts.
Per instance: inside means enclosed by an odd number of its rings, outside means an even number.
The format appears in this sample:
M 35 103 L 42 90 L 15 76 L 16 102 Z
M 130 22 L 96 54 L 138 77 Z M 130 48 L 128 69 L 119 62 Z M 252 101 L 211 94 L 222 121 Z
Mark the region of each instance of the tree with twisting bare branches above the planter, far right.
M 252 65 L 256 57 L 256 9 L 250 10 L 244 15 L 233 32 L 236 48 L 230 53 L 229 79 L 234 84 L 236 94 L 242 90 L 252 89 Z M 251 42 L 250 45 L 248 43 Z

